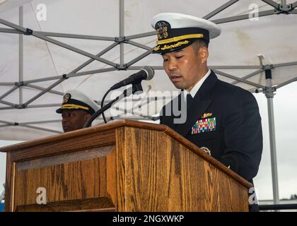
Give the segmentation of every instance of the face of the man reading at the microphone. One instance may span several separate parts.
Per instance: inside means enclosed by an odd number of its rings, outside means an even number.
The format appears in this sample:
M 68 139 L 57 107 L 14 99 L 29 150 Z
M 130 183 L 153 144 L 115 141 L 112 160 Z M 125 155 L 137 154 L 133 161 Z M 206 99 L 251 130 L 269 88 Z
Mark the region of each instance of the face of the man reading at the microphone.
M 163 54 L 163 66 L 170 81 L 178 89 L 192 90 L 194 85 L 206 74 L 208 50 L 192 45 L 179 51 Z

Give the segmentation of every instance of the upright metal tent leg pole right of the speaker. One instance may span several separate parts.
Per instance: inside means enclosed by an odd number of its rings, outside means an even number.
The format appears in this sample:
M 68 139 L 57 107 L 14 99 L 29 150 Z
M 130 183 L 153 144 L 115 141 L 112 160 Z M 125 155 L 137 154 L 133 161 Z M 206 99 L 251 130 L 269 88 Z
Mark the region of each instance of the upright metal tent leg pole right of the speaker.
M 265 71 L 267 88 L 265 95 L 267 97 L 268 120 L 269 120 L 269 141 L 270 141 L 270 158 L 272 164 L 272 189 L 274 204 L 279 204 L 279 180 L 277 175 L 277 160 L 276 160 L 276 141 L 275 141 L 275 126 L 274 126 L 274 107 L 273 97 L 275 89 L 272 87 L 272 71 Z

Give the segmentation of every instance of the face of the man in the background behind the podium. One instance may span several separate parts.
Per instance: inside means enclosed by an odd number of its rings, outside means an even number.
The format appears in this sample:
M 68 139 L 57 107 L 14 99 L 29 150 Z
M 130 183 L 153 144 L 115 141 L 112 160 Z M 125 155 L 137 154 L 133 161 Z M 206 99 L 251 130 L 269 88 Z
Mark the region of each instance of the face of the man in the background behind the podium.
M 91 114 L 79 109 L 64 109 L 62 112 L 62 126 L 64 132 L 83 129 L 86 121 L 91 118 Z

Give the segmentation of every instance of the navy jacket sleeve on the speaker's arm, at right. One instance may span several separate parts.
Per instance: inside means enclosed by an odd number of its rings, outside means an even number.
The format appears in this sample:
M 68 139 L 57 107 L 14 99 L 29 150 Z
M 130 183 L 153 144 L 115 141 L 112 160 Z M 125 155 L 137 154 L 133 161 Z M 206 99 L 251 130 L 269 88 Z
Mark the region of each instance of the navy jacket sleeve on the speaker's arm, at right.
M 263 148 L 259 107 L 252 93 L 238 89 L 223 118 L 225 151 L 220 161 L 251 181 L 257 175 Z

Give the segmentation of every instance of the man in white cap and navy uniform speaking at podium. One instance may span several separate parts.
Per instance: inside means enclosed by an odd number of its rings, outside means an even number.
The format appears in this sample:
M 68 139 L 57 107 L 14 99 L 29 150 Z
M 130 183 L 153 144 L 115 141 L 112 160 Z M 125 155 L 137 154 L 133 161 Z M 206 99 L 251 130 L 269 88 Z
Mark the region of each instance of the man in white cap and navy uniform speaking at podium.
M 182 90 L 175 100 L 187 102 L 185 123 L 176 124 L 177 117 L 165 112 L 166 107 L 160 123 L 252 183 L 262 156 L 261 117 L 252 93 L 220 81 L 207 68 L 209 39 L 219 36 L 221 28 L 180 13 L 158 14 L 151 25 L 158 33 L 153 53 L 162 55 L 170 81 Z

